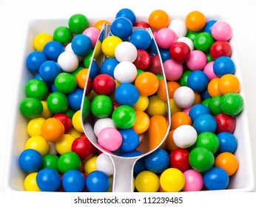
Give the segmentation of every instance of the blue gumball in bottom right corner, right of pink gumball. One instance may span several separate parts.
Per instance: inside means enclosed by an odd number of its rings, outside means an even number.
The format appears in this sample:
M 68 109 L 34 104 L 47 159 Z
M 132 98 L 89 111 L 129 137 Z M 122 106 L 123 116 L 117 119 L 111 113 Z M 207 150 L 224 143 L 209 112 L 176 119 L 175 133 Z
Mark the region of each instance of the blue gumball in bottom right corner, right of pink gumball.
M 209 190 L 223 190 L 229 185 L 229 175 L 219 167 L 213 167 L 203 174 L 203 183 Z

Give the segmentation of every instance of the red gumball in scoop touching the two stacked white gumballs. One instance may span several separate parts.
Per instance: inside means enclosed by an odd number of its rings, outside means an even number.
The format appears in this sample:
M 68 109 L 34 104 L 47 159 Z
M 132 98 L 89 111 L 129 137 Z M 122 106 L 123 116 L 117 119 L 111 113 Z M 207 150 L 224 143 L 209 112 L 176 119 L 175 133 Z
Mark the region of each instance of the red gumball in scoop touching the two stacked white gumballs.
M 149 67 L 149 64 L 150 64 L 149 53 L 146 52 L 146 50 L 142 50 L 142 49 L 138 49 L 137 53 L 138 53 L 137 58 L 135 59 L 133 64 L 135 64 L 135 67 L 137 69 L 141 69 L 141 70 L 145 71 Z

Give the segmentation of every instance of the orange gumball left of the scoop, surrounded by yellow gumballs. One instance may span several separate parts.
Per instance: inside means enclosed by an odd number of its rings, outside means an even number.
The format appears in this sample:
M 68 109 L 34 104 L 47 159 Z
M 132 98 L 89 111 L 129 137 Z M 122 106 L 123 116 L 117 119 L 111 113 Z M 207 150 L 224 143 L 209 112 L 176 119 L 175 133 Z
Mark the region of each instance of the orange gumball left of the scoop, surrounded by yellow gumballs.
M 55 142 L 61 139 L 64 132 L 64 125 L 57 118 L 47 118 L 41 125 L 41 135 L 49 142 Z

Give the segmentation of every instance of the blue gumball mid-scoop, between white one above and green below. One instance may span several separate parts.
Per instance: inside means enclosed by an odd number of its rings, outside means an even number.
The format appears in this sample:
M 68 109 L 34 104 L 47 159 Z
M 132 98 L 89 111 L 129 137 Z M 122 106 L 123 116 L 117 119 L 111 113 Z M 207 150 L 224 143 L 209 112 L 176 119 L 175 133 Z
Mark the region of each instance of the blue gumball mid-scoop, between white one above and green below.
M 138 98 L 138 89 L 133 84 L 120 84 L 115 89 L 115 101 L 120 105 L 133 106 L 138 101 Z

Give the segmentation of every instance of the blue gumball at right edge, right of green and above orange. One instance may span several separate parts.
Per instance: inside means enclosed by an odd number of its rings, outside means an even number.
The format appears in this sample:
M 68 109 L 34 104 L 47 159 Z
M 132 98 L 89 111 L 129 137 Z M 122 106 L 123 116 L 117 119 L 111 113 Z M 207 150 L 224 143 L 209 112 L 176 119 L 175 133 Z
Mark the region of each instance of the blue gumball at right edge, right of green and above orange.
M 235 152 L 235 149 L 237 149 L 238 146 L 238 140 L 235 138 L 235 135 L 233 135 L 230 132 L 220 132 L 217 135 L 217 138 L 220 142 L 220 146 L 218 149 L 218 152 Z

